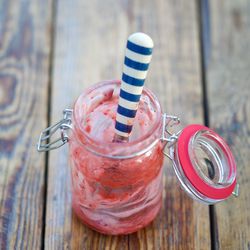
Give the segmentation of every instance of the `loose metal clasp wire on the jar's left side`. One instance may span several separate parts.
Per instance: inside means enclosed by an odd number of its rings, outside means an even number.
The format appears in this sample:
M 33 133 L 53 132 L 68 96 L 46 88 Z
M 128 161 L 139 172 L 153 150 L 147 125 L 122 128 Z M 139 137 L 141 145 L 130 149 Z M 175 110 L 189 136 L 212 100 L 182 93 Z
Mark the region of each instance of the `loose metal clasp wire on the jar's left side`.
M 57 149 L 63 146 L 65 143 L 69 141 L 67 130 L 71 129 L 71 116 L 72 116 L 72 109 L 65 109 L 63 111 L 63 119 L 56 124 L 44 129 L 40 134 L 38 143 L 37 143 L 37 151 L 45 152 L 52 149 Z M 49 139 L 52 137 L 53 134 L 60 130 L 60 137 L 55 139 L 52 142 L 48 142 Z

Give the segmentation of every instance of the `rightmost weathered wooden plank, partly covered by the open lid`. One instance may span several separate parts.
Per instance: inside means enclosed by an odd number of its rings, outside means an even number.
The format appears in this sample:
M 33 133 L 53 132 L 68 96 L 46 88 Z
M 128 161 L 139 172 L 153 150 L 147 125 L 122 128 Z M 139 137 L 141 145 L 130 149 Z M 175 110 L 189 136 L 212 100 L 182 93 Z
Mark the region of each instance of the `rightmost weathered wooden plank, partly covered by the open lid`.
M 231 147 L 240 196 L 216 205 L 220 249 L 250 249 L 250 1 L 209 5 L 207 88 L 210 126 Z

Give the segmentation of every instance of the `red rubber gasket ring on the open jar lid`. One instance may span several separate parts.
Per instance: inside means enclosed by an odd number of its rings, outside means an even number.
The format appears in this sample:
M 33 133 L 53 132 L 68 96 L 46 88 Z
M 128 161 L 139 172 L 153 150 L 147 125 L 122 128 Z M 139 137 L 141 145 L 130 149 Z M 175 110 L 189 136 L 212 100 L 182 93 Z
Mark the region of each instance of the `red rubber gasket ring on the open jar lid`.
M 186 175 L 187 179 L 189 180 L 189 182 L 201 194 L 203 194 L 204 196 L 211 198 L 211 199 L 218 199 L 218 200 L 226 199 L 228 196 L 230 196 L 232 194 L 232 192 L 235 188 L 236 178 L 232 182 L 232 184 L 230 184 L 227 187 L 215 188 L 215 187 L 210 186 L 208 183 L 206 183 L 198 175 L 198 173 L 196 172 L 195 168 L 192 165 L 192 162 L 191 162 L 191 159 L 189 156 L 189 152 L 188 152 L 189 141 L 195 133 L 197 133 L 198 131 L 201 131 L 201 130 L 212 131 L 208 127 L 205 127 L 203 125 L 196 125 L 196 124 L 189 125 L 186 128 L 184 128 L 184 130 L 182 131 L 182 133 L 178 139 L 178 144 L 177 144 L 180 165 L 182 167 L 184 174 Z M 218 136 L 218 135 L 216 135 L 216 136 Z M 220 140 L 222 140 L 224 142 L 224 140 L 221 137 L 219 137 L 219 138 L 220 138 Z M 225 156 L 228 159 L 229 168 L 230 168 L 229 175 L 231 175 L 232 171 L 236 170 L 236 164 L 235 164 L 234 157 L 233 157 L 229 147 L 226 145 L 226 143 L 224 145 L 224 143 L 222 144 L 220 141 L 216 140 L 215 138 L 213 138 L 213 139 L 215 140 L 215 142 L 217 144 L 220 145 L 223 152 L 225 153 Z

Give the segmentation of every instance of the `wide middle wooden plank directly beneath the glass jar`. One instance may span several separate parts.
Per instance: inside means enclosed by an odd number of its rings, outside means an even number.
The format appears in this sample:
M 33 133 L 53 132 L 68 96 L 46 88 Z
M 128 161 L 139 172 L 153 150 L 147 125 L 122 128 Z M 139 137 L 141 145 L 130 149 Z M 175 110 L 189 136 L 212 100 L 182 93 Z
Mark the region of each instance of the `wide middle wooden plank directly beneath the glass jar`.
M 183 124 L 202 122 L 200 54 L 195 1 L 58 1 L 52 123 L 83 89 L 120 78 L 127 36 L 144 31 L 155 41 L 146 85 Z M 209 249 L 207 206 L 189 199 L 166 161 L 163 208 L 146 229 L 104 236 L 71 211 L 67 147 L 50 153 L 46 249 Z

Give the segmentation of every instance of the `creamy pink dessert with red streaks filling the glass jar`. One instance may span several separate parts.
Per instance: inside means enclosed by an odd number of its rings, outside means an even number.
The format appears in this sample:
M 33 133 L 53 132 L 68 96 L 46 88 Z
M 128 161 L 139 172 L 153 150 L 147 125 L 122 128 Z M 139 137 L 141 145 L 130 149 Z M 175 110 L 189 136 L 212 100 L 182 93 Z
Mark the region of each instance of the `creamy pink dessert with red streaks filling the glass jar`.
M 73 208 L 85 224 L 107 234 L 146 226 L 158 213 L 162 194 L 159 107 L 144 93 L 129 142 L 112 143 L 118 85 L 100 85 L 78 99 L 74 123 L 79 126 L 70 139 Z

